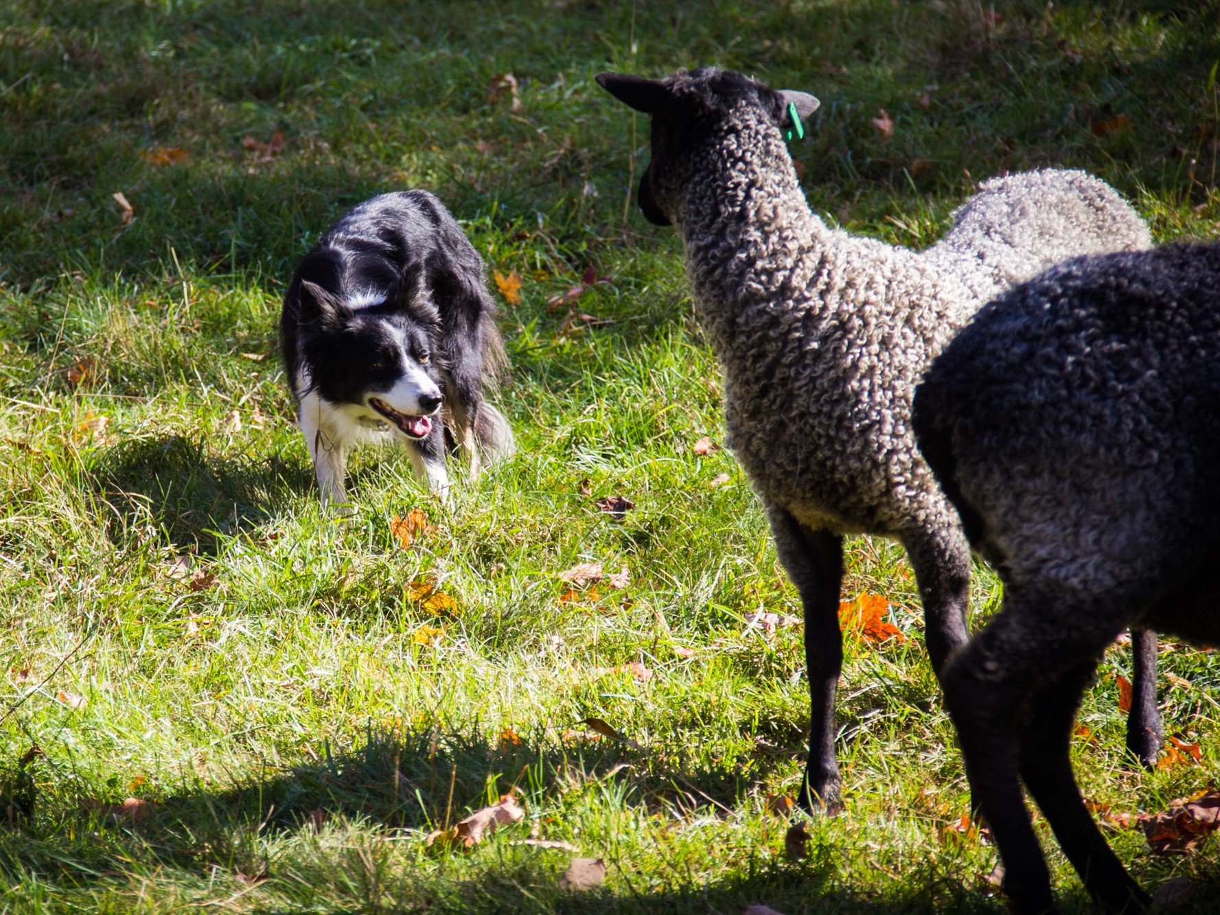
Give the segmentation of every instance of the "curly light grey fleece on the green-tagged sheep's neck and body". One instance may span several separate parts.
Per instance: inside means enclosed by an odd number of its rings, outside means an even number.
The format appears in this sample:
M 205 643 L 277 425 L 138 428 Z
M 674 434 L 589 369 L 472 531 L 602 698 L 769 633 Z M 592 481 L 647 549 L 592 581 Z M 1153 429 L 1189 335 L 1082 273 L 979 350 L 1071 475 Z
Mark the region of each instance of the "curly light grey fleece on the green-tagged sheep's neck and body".
M 669 181 L 725 373 L 727 444 L 765 501 L 815 529 L 906 540 L 955 528 L 911 437 L 924 370 L 997 292 L 1074 255 L 1150 244 L 1143 220 L 1077 171 L 985 183 L 922 254 L 827 228 L 780 128 L 749 101 L 700 151 Z

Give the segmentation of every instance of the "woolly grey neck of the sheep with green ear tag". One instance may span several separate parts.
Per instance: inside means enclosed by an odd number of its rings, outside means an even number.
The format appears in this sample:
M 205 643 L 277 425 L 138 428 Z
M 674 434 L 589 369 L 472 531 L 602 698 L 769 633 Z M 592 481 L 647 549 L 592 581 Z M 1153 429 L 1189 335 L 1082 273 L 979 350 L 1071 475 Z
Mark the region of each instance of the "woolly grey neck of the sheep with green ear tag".
M 700 320 L 727 362 L 743 320 L 765 322 L 772 311 L 783 320 L 830 229 L 810 212 L 777 129 L 737 126 L 705 161 L 714 167 L 687 184 L 677 227 Z

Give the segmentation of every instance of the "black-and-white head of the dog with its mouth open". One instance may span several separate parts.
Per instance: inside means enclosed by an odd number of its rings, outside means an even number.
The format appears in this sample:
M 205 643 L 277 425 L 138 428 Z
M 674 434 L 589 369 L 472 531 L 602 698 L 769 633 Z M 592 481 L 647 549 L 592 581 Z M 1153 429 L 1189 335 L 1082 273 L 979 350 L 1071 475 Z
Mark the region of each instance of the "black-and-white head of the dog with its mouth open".
M 443 354 L 433 344 L 439 317 L 417 285 L 406 277 L 381 301 L 365 290 L 344 300 L 309 279 L 298 287 L 309 388 L 332 404 L 362 406 L 412 439 L 432 431 L 444 399 Z

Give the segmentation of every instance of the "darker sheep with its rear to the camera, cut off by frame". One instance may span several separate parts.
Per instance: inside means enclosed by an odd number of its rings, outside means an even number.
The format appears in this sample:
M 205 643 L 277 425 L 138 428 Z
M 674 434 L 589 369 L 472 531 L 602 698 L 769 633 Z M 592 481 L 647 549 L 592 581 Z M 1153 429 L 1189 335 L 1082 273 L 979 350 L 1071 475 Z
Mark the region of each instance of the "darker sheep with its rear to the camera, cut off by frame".
M 1169 245 L 1009 292 L 915 395 L 920 448 L 1004 581 L 942 684 L 1017 913 L 1054 910 L 1020 782 L 1094 899 L 1149 902 L 1086 810 L 1069 741 L 1122 630 L 1220 642 L 1218 365 L 1220 245 Z

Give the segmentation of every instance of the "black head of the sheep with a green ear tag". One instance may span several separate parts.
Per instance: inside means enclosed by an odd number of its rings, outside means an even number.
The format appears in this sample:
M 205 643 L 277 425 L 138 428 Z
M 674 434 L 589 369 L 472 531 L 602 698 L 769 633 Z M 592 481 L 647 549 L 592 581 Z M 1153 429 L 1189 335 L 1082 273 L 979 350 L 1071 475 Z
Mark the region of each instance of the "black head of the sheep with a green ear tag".
M 658 226 L 673 224 L 686 178 L 682 160 L 730 112 L 750 105 L 764 121 L 781 131 L 791 131 L 795 126 L 792 110 L 806 118 L 819 105 L 809 93 L 771 89 L 717 67 L 680 70 L 665 79 L 644 79 L 628 73 L 599 73 L 597 79 L 619 101 L 653 118 L 653 159 L 639 177 L 637 200 L 644 218 Z

